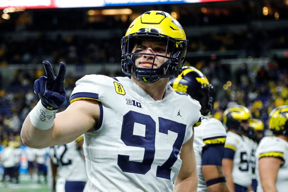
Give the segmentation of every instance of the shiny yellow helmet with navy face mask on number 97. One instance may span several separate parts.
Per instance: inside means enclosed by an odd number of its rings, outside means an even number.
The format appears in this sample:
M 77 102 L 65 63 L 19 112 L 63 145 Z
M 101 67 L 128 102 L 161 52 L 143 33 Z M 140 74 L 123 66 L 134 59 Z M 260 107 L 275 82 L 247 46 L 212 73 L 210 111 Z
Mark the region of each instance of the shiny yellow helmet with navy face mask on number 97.
M 135 56 L 143 55 L 139 52 L 131 53 L 138 39 L 156 39 L 166 42 L 165 56 L 148 53 L 145 55 L 164 57 L 168 60 L 159 69 L 153 69 L 153 65 L 151 69 L 136 67 Z M 153 83 L 163 77 L 177 77 L 182 72 L 187 43 L 182 26 L 170 14 L 163 11 L 145 12 L 130 24 L 121 40 L 122 71 L 144 83 Z M 168 50 L 171 51 L 170 57 L 167 56 Z

